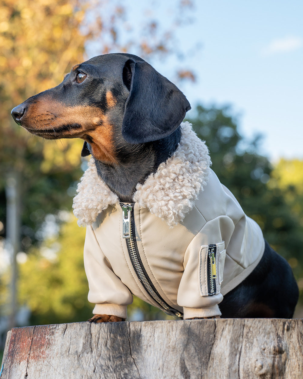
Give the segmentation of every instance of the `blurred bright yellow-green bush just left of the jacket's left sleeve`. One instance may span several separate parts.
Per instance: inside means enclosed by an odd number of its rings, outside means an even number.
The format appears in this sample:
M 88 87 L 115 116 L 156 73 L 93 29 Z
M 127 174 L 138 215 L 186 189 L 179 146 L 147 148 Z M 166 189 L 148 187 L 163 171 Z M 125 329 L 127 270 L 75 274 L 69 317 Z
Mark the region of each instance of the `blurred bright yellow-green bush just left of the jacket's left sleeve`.
M 35 325 L 86 321 L 92 315 L 83 268 L 85 229 L 68 215 L 59 237 L 33 248 L 19 264 L 19 304 L 30 308 Z

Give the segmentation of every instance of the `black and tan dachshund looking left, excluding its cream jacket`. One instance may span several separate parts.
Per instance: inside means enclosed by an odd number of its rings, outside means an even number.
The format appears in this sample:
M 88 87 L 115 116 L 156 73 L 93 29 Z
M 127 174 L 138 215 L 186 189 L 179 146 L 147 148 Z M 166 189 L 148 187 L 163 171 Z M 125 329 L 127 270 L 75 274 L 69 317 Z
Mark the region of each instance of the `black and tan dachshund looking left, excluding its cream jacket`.
M 61 84 L 30 97 L 11 114 L 36 136 L 83 139 L 81 155 L 91 154 L 98 177 L 120 204 L 131 204 L 138 185 L 175 153 L 180 124 L 190 109 L 183 93 L 152 66 L 137 56 L 116 53 L 73 66 Z M 253 270 L 224 294 L 222 317 L 292 317 L 298 287 L 291 268 L 266 242 L 263 249 Z M 187 318 L 207 317 L 218 315 Z M 90 321 L 123 319 L 109 313 L 95 314 Z

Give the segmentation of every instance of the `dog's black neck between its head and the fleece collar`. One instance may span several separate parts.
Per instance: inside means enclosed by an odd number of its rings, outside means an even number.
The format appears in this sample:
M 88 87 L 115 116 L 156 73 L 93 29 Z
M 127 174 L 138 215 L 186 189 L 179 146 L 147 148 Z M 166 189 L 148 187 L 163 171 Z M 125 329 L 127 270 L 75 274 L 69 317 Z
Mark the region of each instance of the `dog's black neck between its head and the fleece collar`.
M 173 155 L 180 138 L 180 127 L 165 138 L 138 145 L 127 143 L 121 136 L 115 142 L 118 163 L 109 165 L 95 159 L 98 175 L 121 202 L 133 202 L 136 185 L 144 183 L 160 163 Z

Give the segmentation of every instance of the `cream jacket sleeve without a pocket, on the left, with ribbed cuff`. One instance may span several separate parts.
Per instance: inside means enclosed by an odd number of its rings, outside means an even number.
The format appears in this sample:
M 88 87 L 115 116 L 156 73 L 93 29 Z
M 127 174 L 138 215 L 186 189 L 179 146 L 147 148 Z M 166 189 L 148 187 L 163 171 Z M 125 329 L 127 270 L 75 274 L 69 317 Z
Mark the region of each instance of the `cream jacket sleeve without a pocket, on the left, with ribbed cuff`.
M 86 228 L 84 268 L 89 284 L 88 301 L 96 304 L 93 313 L 127 318 L 127 305 L 133 302 L 133 296 L 112 271 L 92 226 Z

